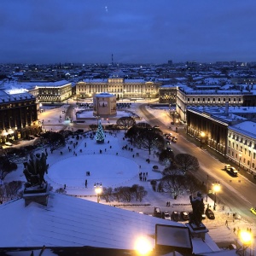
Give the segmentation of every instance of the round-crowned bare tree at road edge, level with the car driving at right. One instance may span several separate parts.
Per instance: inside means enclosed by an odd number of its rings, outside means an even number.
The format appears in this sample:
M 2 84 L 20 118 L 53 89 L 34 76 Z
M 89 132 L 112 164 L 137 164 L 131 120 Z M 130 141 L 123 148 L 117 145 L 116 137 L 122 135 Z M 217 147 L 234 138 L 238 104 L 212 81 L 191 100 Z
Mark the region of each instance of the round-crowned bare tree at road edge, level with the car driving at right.
M 197 158 L 191 154 L 177 154 L 174 160 L 184 173 L 195 172 L 199 169 Z

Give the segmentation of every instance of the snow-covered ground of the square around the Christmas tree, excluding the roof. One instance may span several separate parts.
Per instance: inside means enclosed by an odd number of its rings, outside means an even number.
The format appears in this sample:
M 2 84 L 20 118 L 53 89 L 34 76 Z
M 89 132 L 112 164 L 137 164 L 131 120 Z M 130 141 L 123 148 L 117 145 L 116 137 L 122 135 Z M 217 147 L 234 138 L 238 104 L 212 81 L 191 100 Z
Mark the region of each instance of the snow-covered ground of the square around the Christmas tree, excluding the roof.
M 139 115 L 139 111 L 137 110 L 138 104 L 139 103 L 132 104 L 132 111 L 137 112 Z M 57 112 L 60 112 L 60 109 L 46 110 L 46 112 L 48 113 L 48 118 L 49 116 L 52 117 L 49 118 L 49 124 L 52 125 L 52 129 L 57 130 L 59 123 L 56 121 L 55 116 Z M 168 111 L 154 109 L 150 110 L 150 112 L 157 115 L 166 125 L 170 124 Z M 92 116 L 91 112 L 86 113 Z M 104 120 L 102 120 L 102 122 L 104 122 Z M 54 124 L 56 125 L 54 126 Z M 68 127 L 72 127 L 70 125 L 72 124 L 67 124 L 67 129 L 69 129 Z M 86 122 L 84 125 L 88 125 L 88 123 Z M 81 128 L 86 130 L 84 125 L 82 124 Z M 189 205 L 189 195 L 178 196 L 175 201 L 170 195 L 153 191 L 149 181 L 161 177 L 159 172 L 152 171 L 154 165 L 160 166 L 154 154 L 148 155 L 147 151 L 134 148 L 124 138 L 123 131 L 116 134 L 105 132 L 105 136 L 105 142 L 103 144 L 96 143 L 96 139 L 90 139 L 89 135 L 87 135 L 87 137 L 81 137 L 75 148 L 73 148 L 73 143 L 76 142 L 76 139 L 69 138 L 69 143 L 67 143 L 65 148 L 55 150 L 53 154 L 49 153 L 47 160 L 49 163 L 49 172 L 45 175 L 45 178 L 54 190 L 64 188 L 64 184 L 66 184 L 67 195 L 77 195 L 84 198 L 84 200 L 96 201 L 94 183 L 102 183 L 103 187 L 113 188 L 139 184 L 148 191 L 148 195 L 143 198 L 141 203 L 133 202 L 137 204 L 137 207 L 130 207 L 125 203 L 126 207 L 123 206 L 125 209 L 135 212 L 144 212 L 145 214 L 152 214 L 154 207 L 160 207 L 162 211 L 166 210 L 170 213 L 172 213 L 173 210 L 177 210 L 178 212 L 191 210 L 190 206 L 175 206 L 177 204 Z M 126 145 L 128 149 L 122 149 Z M 71 152 L 69 152 L 68 147 L 72 148 Z M 38 152 L 40 152 L 41 149 L 38 150 Z M 100 150 L 102 150 L 102 154 L 100 154 Z M 61 154 L 61 152 L 63 154 Z M 150 159 L 150 163 L 146 161 L 148 158 Z M 4 182 L 12 180 L 26 181 L 22 168 L 23 165 L 20 164 L 18 170 L 11 172 L 4 179 Z M 164 166 L 160 166 L 160 170 L 163 168 Z M 87 176 L 86 172 L 90 172 L 90 176 Z M 139 172 L 148 172 L 147 181 L 140 181 Z M 85 188 L 84 184 L 86 179 L 87 188 Z M 166 201 L 171 202 L 171 207 L 166 207 Z M 100 202 L 106 204 L 103 200 Z M 210 198 L 208 198 L 207 203 L 209 203 L 211 207 L 213 206 L 213 201 Z M 111 204 L 117 204 L 117 202 L 111 202 Z M 150 206 L 145 207 L 146 204 L 150 204 Z M 230 209 L 218 205 L 214 213 L 216 216 L 214 220 L 203 220 L 203 223 L 209 230 L 209 235 L 212 236 L 214 241 L 226 244 L 236 243 L 238 228 L 240 230 L 251 228 L 253 234 L 255 234 L 255 224 L 248 224 L 244 219 L 233 219 L 233 212 L 231 212 Z M 228 221 L 227 225 L 225 224 L 226 220 Z M 234 232 L 234 228 L 236 228 L 236 232 Z

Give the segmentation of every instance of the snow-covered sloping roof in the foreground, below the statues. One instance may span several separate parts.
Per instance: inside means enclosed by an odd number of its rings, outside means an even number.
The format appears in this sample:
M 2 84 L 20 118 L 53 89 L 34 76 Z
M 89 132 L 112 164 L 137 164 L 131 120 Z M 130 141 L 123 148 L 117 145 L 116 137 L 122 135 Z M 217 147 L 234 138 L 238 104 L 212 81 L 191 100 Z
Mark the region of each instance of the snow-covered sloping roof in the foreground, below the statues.
M 139 236 L 154 247 L 155 224 L 184 224 L 86 201 L 70 195 L 49 194 L 48 206 L 23 199 L 0 206 L 4 219 L 0 247 L 106 247 L 134 249 Z M 195 253 L 220 249 L 210 236 L 192 240 Z

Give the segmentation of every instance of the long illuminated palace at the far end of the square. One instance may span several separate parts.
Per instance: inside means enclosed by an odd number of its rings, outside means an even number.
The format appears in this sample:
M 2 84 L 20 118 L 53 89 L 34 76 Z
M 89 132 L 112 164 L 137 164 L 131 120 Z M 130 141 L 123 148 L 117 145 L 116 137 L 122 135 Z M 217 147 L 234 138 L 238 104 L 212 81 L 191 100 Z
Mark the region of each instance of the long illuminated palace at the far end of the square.
M 116 96 L 117 100 L 123 98 L 156 98 L 159 96 L 160 82 L 145 81 L 143 79 L 84 79 L 76 84 L 78 97 L 86 98 L 102 92 Z

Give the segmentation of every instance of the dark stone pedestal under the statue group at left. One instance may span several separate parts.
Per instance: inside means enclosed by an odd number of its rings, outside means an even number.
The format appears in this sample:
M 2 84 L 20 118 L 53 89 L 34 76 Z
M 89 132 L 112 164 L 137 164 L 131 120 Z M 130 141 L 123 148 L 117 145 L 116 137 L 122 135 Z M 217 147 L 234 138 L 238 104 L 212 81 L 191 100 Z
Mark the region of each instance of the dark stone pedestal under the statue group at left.
M 49 183 L 45 183 L 42 186 L 34 186 L 24 189 L 23 198 L 25 200 L 25 207 L 31 202 L 37 202 L 38 204 L 47 206 L 49 198 Z

